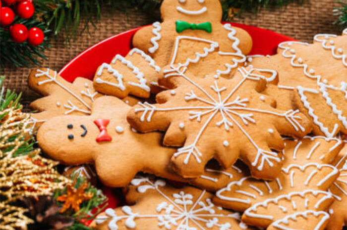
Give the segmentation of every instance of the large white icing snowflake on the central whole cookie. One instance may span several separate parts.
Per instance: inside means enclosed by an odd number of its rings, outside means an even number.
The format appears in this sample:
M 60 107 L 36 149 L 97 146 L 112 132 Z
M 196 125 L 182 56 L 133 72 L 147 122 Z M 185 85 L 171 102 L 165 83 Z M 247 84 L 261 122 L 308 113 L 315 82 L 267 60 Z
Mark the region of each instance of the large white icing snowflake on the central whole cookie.
M 298 110 L 288 110 L 284 113 L 279 113 L 275 111 L 269 111 L 269 110 L 262 110 L 257 108 L 251 108 L 248 106 L 249 99 L 246 97 L 240 97 L 236 96 L 234 99 L 231 99 L 234 94 L 237 93 L 241 85 L 247 81 L 247 80 L 253 80 L 253 81 L 259 81 L 261 79 L 264 79 L 263 76 L 255 73 L 255 71 L 260 71 L 260 69 L 246 69 L 246 68 L 239 68 L 238 71 L 241 73 L 242 78 L 237 83 L 237 85 L 232 88 L 228 89 L 226 86 L 220 86 L 218 83 L 218 80 L 214 80 L 214 84 L 210 86 L 210 88 L 215 92 L 215 94 L 210 94 L 207 92 L 203 87 L 198 85 L 194 82 L 194 80 L 187 77 L 184 72 L 186 70 L 186 67 L 184 66 L 171 66 L 171 69 L 164 70 L 165 78 L 172 77 L 172 76 L 181 76 L 186 81 L 188 81 L 190 84 L 192 84 L 196 91 L 199 91 L 200 94 L 203 94 L 207 96 L 207 98 L 202 98 L 201 96 L 198 96 L 197 93 L 194 90 L 191 90 L 190 92 L 187 92 L 185 94 L 185 101 L 198 101 L 199 103 L 202 102 L 203 106 L 186 106 L 186 107 L 173 107 L 173 108 L 158 108 L 155 105 L 149 104 L 147 102 L 139 103 L 140 108 L 136 108 L 134 111 L 135 113 L 142 113 L 140 117 L 140 121 L 144 122 L 150 122 L 152 119 L 152 115 L 157 111 L 174 111 L 174 110 L 187 110 L 189 114 L 190 120 L 196 120 L 197 122 L 200 122 L 201 119 L 204 116 L 207 116 L 206 122 L 202 125 L 199 133 L 195 137 L 194 141 L 184 147 L 178 148 L 177 152 L 174 154 L 174 157 L 177 157 L 179 155 L 186 155 L 184 159 L 184 164 L 187 164 L 190 158 L 194 158 L 198 163 L 201 163 L 200 157 L 202 156 L 202 153 L 200 149 L 197 147 L 197 143 L 200 140 L 200 138 L 203 136 L 204 131 L 206 128 L 210 125 L 211 121 L 215 118 L 217 114 L 220 114 L 222 117 L 222 120 L 219 120 L 215 123 L 217 127 L 223 127 L 223 129 L 228 132 L 233 127 L 237 127 L 242 134 L 252 143 L 254 148 L 257 151 L 257 155 L 254 159 L 254 161 L 251 163 L 253 167 L 257 166 L 257 169 L 261 171 L 264 167 L 264 164 L 267 163 L 270 167 L 272 167 L 274 164 L 272 161 L 280 162 L 281 159 L 277 156 L 277 153 L 264 150 L 261 147 L 258 146 L 256 140 L 254 140 L 246 131 L 244 128 L 242 128 L 242 125 L 248 125 L 249 123 L 256 123 L 256 120 L 253 118 L 253 113 L 262 113 L 262 114 L 270 114 L 275 115 L 279 117 L 285 118 L 288 123 L 295 129 L 297 132 L 304 132 L 304 128 L 300 125 L 298 120 L 301 119 L 300 116 L 297 115 Z M 273 75 L 276 75 L 276 71 L 270 71 L 269 72 L 273 78 Z M 227 96 L 222 98 L 222 92 L 227 93 Z M 201 103 L 200 103 L 201 104 Z M 246 113 L 242 113 L 246 111 Z M 237 121 L 235 118 L 239 118 L 241 120 Z M 227 146 L 229 143 L 227 144 Z M 226 145 L 224 145 L 226 146 Z M 260 163 L 259 163 L 260 162 Z

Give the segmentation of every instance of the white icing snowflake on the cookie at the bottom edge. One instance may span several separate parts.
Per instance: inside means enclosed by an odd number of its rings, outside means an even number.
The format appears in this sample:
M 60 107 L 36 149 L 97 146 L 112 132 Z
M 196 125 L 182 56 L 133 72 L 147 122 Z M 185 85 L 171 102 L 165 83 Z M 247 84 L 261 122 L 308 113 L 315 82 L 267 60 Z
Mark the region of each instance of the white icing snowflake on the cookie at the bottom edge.
M 155 213 L 152 215 L 141 215 L 140 213 L 134 213 L 130 206 L 123 206 L 123 215 L 116 215 L 115 210 L 107 209 L 106 215 L 97 217 L 96 224 L 102 224 L 107 220 L 111 221 L 108 224 L 110 230 L 117 230 L 119 228 L 118 223 L 120 220 L 125 220 L 124 225 L 128 229 L 136 228 L 136 220 L 141 218 L 153 218 L 157 219 L 158 226 L 163 229 L 171 230 L 205 230 L 218 228 L 219 230 L 231 230 L 231 223 L 220 222 L 219 218 L 233 218 L 240 219 L 239 213 L 233 214 L 221 214 L 216 213 L 217 210 L 221 210 L 220 207 L 216 207 L 212 201 L 207 198 L 203 200 L 205 190 L 202 190 L 198 199 L 193 202 L 194 197 L 190 193 L 179 191 L 173 193 L 172 197 L 165 194 L 161 187 L 166 185 L 163 180 L 157 180 L 152 182 L 148 178 L 134 179 L 131 182 L 132 185 L 138 186 L 137 191 L 145 193 L 148 189 L 154 189 L 166 201 L 159 203 L 156 206 Z M 243 223 L 239 224 L 241 228 L 246 228 Z M 198 228 L 197 228 L 198 227 Z

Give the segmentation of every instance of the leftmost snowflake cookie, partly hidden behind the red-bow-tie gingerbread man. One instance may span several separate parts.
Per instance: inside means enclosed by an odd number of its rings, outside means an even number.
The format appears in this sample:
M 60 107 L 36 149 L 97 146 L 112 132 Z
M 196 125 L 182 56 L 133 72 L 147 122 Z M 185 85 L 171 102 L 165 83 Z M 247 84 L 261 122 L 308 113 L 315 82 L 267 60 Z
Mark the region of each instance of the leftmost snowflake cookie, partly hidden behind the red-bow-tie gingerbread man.
M 102 96 L 95 91 L 92 81 L 76 78 L 73 83 L 69 83 L 56 71 L 46 68 L 34 69 L 29 75 L 28 85 L 45 96 L 30 103 L 30 107 L 38 111 L 31 114 L 34 130 L 47 119 L 58 115 L 89 115 L 94 100 Z M 140 101 L 131 96 L 123 100 L 129 105 Z

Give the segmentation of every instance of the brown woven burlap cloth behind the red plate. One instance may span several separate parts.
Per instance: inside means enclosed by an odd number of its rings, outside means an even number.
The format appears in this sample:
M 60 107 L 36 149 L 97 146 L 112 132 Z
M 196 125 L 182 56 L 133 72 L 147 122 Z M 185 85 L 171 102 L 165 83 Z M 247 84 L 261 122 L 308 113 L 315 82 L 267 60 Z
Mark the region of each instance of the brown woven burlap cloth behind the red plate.
M 297 40 L 311 42 L 317 33 L 341 33 L 341 28 L 333 25 L 335 17 L 332 10 L 337 3 L 335 0 L 306 0 L 304 4 L 289 4 L 286 8 L 267 9 L 257 15 L 245 13 L 242 18 L 234 21 L 258 26 L 287 35 Z M 42 62 L 43 67 L 55 70 L 61 69 L 69 60 L 93 44 L 112 35 L 158 20 L 158 13 L 148 15 L 139 10 L 110 11 L 103 9 L 97 28 L 90 27 L 90 35 L 84 32 L 70 46 L 64 46 L 64 39 L 52 41 L 52 48 L 46 50 L 48 60 Z M 6 75 L 5 86 L 17 92 L 23 92 L 23 103 L 38 97 L 27 87 L 27 68 L 4 68 Z

